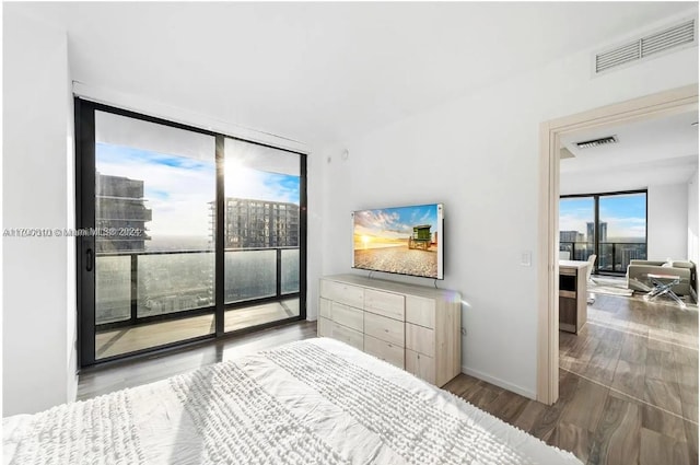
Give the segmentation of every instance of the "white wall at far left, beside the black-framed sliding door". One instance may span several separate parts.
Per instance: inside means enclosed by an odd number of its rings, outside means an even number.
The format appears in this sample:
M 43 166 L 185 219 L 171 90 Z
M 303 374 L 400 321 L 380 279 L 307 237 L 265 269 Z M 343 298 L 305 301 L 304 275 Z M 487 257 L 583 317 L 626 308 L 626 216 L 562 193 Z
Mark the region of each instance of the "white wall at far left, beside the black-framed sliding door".
M 67 36 L 14 4 L 3 15 L 3 228 L 69 228 Z M 74 396 L 71 253 L 66 239 L 3 237 L 4 416 Z

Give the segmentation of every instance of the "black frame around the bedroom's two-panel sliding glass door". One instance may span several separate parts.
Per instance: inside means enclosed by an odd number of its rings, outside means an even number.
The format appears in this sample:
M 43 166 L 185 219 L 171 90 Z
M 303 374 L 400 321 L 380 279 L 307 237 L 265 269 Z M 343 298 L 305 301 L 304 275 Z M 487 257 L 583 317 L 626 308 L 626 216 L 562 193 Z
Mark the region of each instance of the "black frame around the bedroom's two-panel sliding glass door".
M 225 222 L 225 193 L 224 193 L 224 140 L 226 138 L 255 143 L 276 150 L 293 153 L 300 156 L 300 231 L 299 231 L 299 292 L 278 295 L 275 298 L 256 299 L 235 304 L 224 303 L 224 235 L 215 235 L 214 245 L 214 306 L 194 309 L 191 311 L 178 312 L 173 316 L 164 318 L 183 317 L 184 314 L 214 313 L 215 332 L 210 335 L 185 339 L 182 341 L 142 349 L 125 354 L 95 359 L 95 236 L 84 233 L 95 229 L 95 111 L 112 113 L 120 116 L 136 118 L 149 123 L 155 123 L 187 131 L 194 131 L 214 137 L 214 162 L 215 162 L 215 205 L 217 205 L 217 231 L 224 231 Z M 234 136 L 214 132 L 207 129 L 197 128 L 179 123 L 170 121 L 153 116 L 148 116 L 122 108 L 117 108 L 101 103 L 95 103 L 81 97 L 74 97 L 74 121 L 75 121 L 75 229 L 83 232 L 78 234 L 75 240 L 75 263 L 77 263 L 77 311 L 78 311 L 78 365 L 86 368 L 95 364 L 109 363 L 116 360 L 130 359 L 147 353 L 161 352 L 172 348 L 178 348 L 207 339 L 231 337 L 240 334 L 260 330 L 271 326 L 306 319 L 306 205 L 307 205 L 307 182 L 306 182 L 306 154 L 290 149 L 282 149 L 256 141 L 250 141 Z M 133 286 L 133 283 L 132 283 Z M 279 290 L 279 286 L 278 286 Z M 132 297 L 133 297 L 132 292 Z M 258 303 L 279 301 L 298 297 L 300 299 L 300 314 L 290 318 L 279 319 L 257 326 L 246 327 L 235 332 L 224 332 L 224 312 L 230 309 L 252 306 Z M 132 302 L 132 305 L 135 302 Z M 159 319 L 142 318 L 142 323 Z

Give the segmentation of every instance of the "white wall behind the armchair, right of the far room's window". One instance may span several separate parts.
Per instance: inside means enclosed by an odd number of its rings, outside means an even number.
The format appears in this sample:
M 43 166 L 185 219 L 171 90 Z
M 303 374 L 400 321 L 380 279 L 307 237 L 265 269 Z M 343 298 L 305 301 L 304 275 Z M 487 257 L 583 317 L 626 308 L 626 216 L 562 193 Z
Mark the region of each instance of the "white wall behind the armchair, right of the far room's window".
M 687 259 L 688 184 L 649 186 L 646 202 L 649 259 Z

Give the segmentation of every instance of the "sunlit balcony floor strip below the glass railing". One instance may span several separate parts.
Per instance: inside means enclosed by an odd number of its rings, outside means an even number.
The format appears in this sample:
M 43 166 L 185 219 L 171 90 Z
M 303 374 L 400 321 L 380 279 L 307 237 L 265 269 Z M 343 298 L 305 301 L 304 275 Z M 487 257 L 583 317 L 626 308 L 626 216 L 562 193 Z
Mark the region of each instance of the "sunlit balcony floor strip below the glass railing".
M 229 310 L 224 313 L 224 330 L 229 333 L 293 316 L 299 316 L 298 298 L 245 309 Z M 95 358 L 100 360 L 115 357 L 136 350 L 206 336 L 213 332 L 213 314 L 109 329 L 96 334 Z

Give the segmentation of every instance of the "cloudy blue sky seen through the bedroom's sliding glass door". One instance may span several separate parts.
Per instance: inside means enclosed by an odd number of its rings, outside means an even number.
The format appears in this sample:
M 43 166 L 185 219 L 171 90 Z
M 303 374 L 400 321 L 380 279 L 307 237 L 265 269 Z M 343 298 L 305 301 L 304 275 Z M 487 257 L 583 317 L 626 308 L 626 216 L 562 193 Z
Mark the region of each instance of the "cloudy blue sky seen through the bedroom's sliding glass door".
M 209 202 L 215 197 L 213 153 L 210 161 L 98 142 L 95 166 L 100 174 L 143 181 L 145 207 L 153 219 L 148 234 L 209 236 Z M 299 205 L 300 177 L 250 170 L 226 158 L 226 197 Z

